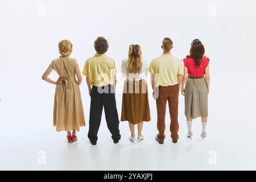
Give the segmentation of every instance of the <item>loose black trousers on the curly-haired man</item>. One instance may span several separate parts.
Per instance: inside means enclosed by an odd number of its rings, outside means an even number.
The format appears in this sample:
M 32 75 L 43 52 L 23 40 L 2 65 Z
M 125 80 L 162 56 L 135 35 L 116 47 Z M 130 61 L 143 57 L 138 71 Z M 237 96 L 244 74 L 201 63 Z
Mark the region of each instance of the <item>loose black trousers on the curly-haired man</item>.
M 88 138 L 90 142 L 97 142 L 97 134 L 101 123 L 103 106 L 106 122 L 108 125 L 108 129 L 112 134 L 112 139 L 114 140 L 114 142 L 118 142 L 118 140 L 121 138 L 121 135 L 119 132 L 119 119 L 113 85 L 106 85 L 100 87 L 93 86 L 90 97 L 90 118 L 88 133 Z

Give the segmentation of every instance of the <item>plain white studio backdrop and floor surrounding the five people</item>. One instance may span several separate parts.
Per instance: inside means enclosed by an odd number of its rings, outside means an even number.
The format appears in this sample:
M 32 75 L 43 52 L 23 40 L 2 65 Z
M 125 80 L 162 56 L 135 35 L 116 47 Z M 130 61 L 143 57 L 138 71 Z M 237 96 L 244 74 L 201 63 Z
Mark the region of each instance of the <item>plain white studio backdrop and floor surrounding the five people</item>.
M 0 169 L 176 170 L 256 169 L 255 146 L 255 1 L 0 1 Z M 80 70 L 93 56 L 97 36 L 109 41 L 108 56 L 117 68 L 129 44 L 142 47 L 151 61 L 162 53 L 164 37 L 174 41 L 172 54 L 183 59 L 199 38 L 210 58 L 208 137 L 200 139 L 201 122 L 187 140 L 184 98 L 180 95 L 180 140 L 172 144 L 166 113 L 166 140 L 155 142 L 156 106 L 150 91 L 151 122 L 142 143 L 129 142 L 127 122 L 122 140 L 113 144 L 105 116 L 97 146 L 87 138 L 89 104 L 85 77 L 80 89 L 86 126 L 79 142 L 68 144 L 52 126 L 55 86 L 41 77 L 59 56 L 57 43 L 73 43 L 71 57 Z M 56 73 L 50 75 L 56 79 Z M 117 108 L 121 117 L 122 84 L 118 75 Z M 168 107 L 167 107 L 168 110 Z

